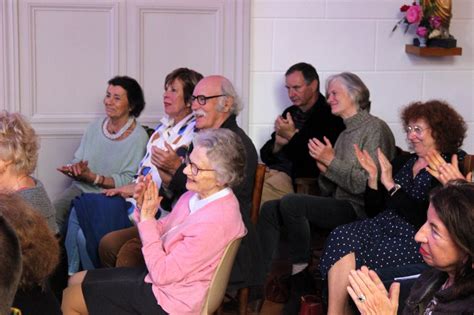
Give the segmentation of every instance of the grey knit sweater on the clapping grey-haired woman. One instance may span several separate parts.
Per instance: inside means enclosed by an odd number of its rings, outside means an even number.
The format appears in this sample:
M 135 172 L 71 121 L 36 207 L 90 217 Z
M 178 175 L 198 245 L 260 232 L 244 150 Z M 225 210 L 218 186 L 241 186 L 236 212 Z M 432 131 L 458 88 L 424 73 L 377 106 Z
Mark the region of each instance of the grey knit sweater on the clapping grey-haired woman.
M 395 138 L 383 120 L 365 110 L 345 119 L 344 124 L 346 130 L 339 135 L 334 145 L 335 157 L 327 171 L 319 177 L 319 186 L 324 196 L 349 201 L 358 217 L 364 218 L 364 192 L 368 175 L 357 161 L 354 144 L 367 150 L 374 161 L 378 161 L 376 150 L 379 147 L 392 160 L 395 156 Z

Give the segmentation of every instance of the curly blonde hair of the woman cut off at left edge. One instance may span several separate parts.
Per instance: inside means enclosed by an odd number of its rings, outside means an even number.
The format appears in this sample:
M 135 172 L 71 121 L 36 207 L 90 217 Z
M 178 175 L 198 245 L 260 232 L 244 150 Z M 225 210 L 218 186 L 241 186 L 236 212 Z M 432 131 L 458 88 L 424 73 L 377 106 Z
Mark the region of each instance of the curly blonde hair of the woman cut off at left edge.
M 36 168 L 38 150 L 38 136 L 26 119 L 19 113 L 0 112 L 0 159 L 29 175 Z

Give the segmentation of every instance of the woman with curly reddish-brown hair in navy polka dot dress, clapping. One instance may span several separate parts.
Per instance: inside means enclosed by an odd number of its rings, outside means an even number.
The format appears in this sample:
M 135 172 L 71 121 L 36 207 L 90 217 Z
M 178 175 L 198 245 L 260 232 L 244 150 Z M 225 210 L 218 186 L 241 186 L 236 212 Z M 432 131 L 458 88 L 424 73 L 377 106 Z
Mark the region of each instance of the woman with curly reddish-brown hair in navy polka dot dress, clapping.
M 414 153 L 390 163 L 378 149 L 380 178 L 369 153 L 355 147 L 368 174 L 365 206 L 371 218 L 339 226 L 326 241 L 320 269 L 328 280 L 328 314 L 351 313 L 346 292 L 350 270 L 362 265 L 377 270 L 423 262 L 414 236 L 426 221 L 431 189 L 441 185 L 427 170 L 428 158 L 437 152 L 445 161 L 456 159 L 467 127 L 450 105 L 438 100 L 410 104 L 401 118 Z

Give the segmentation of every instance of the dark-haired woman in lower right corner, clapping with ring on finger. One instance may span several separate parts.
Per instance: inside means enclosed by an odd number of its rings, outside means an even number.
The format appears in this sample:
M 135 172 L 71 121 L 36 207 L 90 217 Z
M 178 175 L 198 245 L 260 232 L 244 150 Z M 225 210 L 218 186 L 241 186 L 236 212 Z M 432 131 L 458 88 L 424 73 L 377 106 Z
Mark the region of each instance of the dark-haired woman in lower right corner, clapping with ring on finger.
M 431 195 L 428 218 L 415 235 L 433 267 L 411 289 L 403 314 L 474 312 L 474 184 L 449 182 Z M 396 314 L 399 285 L 387 292 L 373 270 L 351 271 L 347 291 L 362 314 Z

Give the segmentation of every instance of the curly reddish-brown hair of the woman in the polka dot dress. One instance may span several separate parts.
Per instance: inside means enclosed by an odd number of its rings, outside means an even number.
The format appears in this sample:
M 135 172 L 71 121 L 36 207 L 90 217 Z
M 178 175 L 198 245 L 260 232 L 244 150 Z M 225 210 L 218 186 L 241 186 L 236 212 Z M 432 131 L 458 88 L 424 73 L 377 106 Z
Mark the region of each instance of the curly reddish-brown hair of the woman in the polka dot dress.
M 411 103 L 402 110 L 401 118 L 405 130 L 410 122 L 424 120 L 431 128 L 437 149 L 446 154 L 456 153 L 466 138 L 466 122 L 451 105 L 441 100 Z

